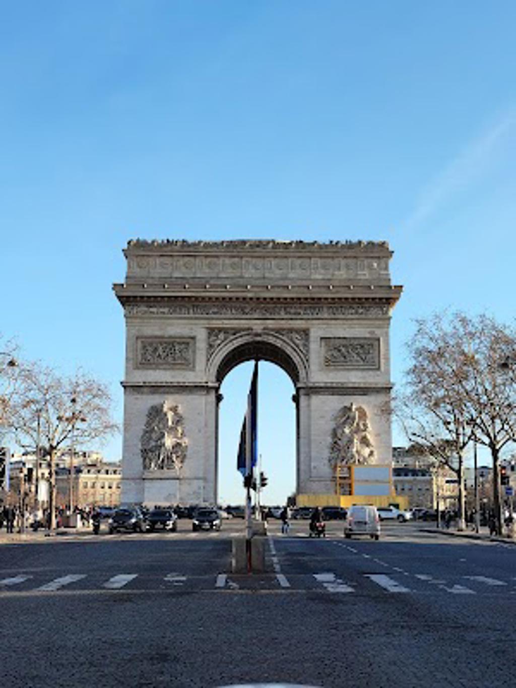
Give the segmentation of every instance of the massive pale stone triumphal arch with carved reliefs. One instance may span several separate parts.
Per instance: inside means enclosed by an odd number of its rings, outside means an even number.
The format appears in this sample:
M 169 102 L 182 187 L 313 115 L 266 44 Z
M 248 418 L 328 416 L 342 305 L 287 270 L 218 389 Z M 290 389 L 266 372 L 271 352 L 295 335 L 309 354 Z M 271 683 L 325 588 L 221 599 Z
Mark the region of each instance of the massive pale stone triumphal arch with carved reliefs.
M 219 387 L 255 358 L 296 389 L 298 493 L 334 492 L 353 424 L 354 460 L 391 462 L 401 287 L 385 242 L 136 240 L 124 253 L 122 502 L 216 502 Z

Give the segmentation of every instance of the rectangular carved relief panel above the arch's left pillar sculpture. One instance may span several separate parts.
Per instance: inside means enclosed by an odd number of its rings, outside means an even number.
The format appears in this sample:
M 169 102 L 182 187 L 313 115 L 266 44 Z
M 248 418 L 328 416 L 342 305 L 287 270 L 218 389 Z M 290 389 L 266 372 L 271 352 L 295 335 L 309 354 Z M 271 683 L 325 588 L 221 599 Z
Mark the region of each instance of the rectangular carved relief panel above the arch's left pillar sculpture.
M 195 337 L 137 337 L 137 368 L 195 369 Z

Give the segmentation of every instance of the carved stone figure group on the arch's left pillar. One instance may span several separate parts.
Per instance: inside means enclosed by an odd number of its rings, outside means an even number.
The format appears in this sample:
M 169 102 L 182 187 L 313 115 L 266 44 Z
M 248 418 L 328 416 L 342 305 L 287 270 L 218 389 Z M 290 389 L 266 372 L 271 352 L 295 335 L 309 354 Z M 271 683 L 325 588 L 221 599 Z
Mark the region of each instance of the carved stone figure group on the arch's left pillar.
M 147 411 L 140 442 L 145 471 L 176 471 L 186 459 L 188 440 L 184 436 L 184 418 L 180 406 L 168 401 Z

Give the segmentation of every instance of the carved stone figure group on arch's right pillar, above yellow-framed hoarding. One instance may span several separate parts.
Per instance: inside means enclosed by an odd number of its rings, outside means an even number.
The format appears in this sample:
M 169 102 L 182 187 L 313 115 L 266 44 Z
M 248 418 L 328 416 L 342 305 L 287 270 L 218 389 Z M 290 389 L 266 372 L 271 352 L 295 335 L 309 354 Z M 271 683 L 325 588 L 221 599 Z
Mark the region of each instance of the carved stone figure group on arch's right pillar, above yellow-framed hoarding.
M 374 462 L 374 447 L 370 437 L 367 411 L 353 403 L 343 406 L 335 416 L 330 445 L 330 464 L 370 464 Z

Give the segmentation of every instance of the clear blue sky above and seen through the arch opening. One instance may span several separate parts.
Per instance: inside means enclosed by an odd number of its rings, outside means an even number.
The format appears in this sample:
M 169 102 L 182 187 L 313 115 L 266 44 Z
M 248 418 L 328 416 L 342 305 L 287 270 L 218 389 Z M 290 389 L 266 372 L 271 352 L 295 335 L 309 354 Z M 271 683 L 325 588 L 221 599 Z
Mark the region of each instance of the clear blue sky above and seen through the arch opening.
M 2 3 L 0 331 L 107 380 L 121 417 L 111 283 L 138 236 L 387 239 L 405 286 L 395 382 L 414 317 L 512 321 L 515 25 L 503 0 Z M 281 502 L 292 389 L 262 373 L 267 499 Z M 249 377 L 226 378 L 225 405 L 244 408 Z M 229 416 L 221 493 L 236 501 Z

